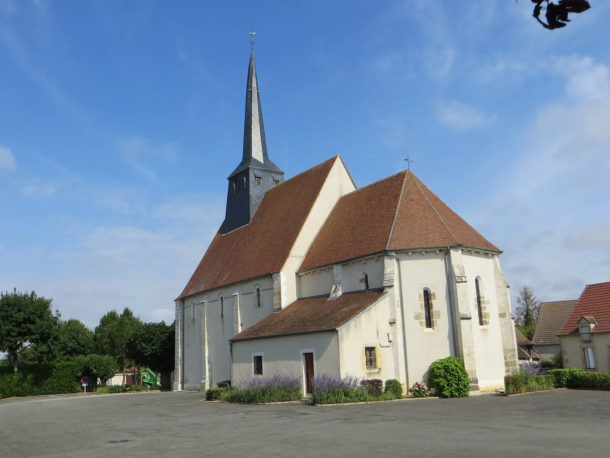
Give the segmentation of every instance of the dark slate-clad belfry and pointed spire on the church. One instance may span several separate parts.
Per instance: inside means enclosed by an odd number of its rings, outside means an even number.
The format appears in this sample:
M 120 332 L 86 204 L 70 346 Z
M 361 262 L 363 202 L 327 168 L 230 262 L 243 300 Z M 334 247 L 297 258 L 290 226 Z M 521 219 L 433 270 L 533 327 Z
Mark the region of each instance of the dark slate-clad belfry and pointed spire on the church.
M 284 172 L 267 156 L 263 113 L 260 109 L 259 84 L 254 54 L 250 54 L 246 85 L 246 119 L 243 127 L 243 156 L 229 175 L 227 209 L 223 234 L 250 222 L 265 191 L 284 181 Z

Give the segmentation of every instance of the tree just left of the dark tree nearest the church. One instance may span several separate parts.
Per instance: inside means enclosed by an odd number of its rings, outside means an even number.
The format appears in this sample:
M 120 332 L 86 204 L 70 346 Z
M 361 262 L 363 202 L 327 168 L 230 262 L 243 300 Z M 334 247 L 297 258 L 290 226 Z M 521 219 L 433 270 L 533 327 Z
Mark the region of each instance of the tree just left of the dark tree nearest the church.
M 95 328 L 94 347 L 99 354 L 112 356 L 117 360 L 118 368 L 123 371 L 123 388 L 125 387 L 125 369 L 132 364 L 127 356 L 127 341 L 138 327 L 142 325 L 139 317 L 125 307 L 123 313 L 111 310 L 99 320 Z

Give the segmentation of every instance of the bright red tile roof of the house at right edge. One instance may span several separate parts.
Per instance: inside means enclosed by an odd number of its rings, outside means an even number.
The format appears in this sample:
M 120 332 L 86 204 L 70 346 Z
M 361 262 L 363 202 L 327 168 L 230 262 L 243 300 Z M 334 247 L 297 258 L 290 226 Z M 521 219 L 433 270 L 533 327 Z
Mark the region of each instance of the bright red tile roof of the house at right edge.
M 591 332 L 610 332 L 610 282 L 584 288 L 559 335 L 578 333 L 578 321 L 583 316 L 592 316 L 597 320 Z

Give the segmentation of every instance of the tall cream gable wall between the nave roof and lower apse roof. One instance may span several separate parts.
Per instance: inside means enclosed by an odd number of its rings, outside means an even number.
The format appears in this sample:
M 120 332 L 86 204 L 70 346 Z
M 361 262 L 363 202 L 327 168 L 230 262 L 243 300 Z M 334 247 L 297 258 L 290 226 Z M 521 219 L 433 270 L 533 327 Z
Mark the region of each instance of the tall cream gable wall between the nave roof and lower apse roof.
M 298 271 L 303 259 L 309 250 L 315 236 L 318 235 L 322 225 L 325 223 L 329 214 L 331 214 L 332 208 L 335 206 L 337 201 L 342 195 L 348 194 L 348 192 L 354 191 L 356 188 L 351 181 L 350 175 L 345 169 L 341 159 L 337 158 L 335 163 L 332 165 L 331 171 L 328 173 L 328 178 L 320 194 L 315 200 L 314 206 L 305 220 L 305 224 L 301 229 L 298 237 L 296 238 L 295 244 L 290 250 L 290 255 L 286 260 L 282 272 L 285 275 L 285 294 L 286 297 L 282 298 L 282 307 L 285 307 L 296 300 L 297 297 L 317 296 L 318 294 L 328 294 L 331 291 L 329 286 L 328 290 L 321 293 L 314 294 L 303 294 L 300 290 L 300 282 L 296 279 L 296 271 Z M 322 271 L 325 272 L 325 271 Z M 317 279 L 317 275 L 314 275 Z M 331 285 L 332 285 L 332 269 L 331 269 Z

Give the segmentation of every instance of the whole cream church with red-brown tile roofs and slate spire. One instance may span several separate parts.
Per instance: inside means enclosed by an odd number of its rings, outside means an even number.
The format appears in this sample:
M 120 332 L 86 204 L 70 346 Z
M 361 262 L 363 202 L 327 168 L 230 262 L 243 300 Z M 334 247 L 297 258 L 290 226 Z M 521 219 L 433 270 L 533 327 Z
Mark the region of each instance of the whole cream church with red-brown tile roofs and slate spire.
M 281 165 L 281 161 L 276 158 Z M 292 372 L 397 379 L 455 355 L 472 394 L 517 368 L 498 247 L 411 170 L 357 188 L 337 154 L 284 180 L 250 56 L 224 222 L 176 299 L 174 390 Z

